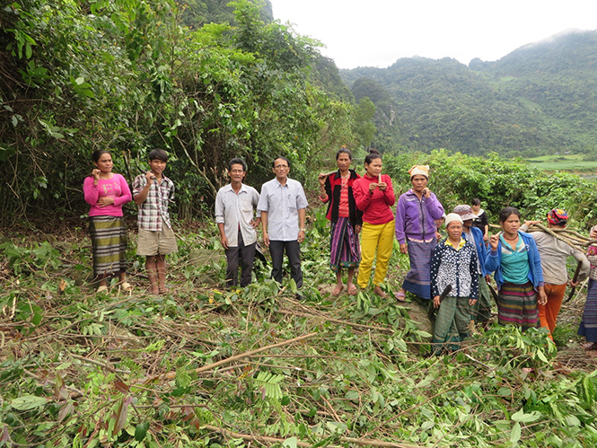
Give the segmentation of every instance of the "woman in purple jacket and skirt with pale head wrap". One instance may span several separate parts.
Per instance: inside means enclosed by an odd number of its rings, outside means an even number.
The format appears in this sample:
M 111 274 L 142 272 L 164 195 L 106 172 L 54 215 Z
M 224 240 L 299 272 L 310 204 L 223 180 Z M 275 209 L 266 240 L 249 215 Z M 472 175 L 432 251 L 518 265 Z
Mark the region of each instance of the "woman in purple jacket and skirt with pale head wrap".
M 431 254 L 437 244 L 435 220 L 443 216 L 443 206 L 427 188 L 429 166 L 415 165 L 410 170 L 412 189 L 400 196 L 396 207 L 396 239 L 400 252 L 408 253 L 410 270 L 396 298 L 405 300 L 405 292 L 431 299 L 429 272 Z

